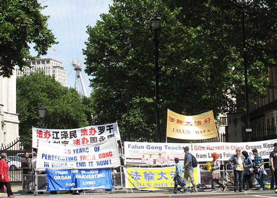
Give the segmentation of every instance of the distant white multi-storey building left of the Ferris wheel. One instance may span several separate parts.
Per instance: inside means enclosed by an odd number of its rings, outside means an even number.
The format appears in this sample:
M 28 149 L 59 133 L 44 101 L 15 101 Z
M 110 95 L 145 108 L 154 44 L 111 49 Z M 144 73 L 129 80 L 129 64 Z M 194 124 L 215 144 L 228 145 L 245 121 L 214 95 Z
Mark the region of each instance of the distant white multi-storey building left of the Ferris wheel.
M 43 70 L 46 75 L 55 76 L 56 81 L 62 86 L 66 86 L 66 70 L 62 66 L 62 62 L 53 58 L 39 58 L 36 60 L 27 60 L 27 62 L 30 63 L 30 67 L 25 67 L 23 71 L 20 71 L 18 68 L 16 69 L 17 77 Z

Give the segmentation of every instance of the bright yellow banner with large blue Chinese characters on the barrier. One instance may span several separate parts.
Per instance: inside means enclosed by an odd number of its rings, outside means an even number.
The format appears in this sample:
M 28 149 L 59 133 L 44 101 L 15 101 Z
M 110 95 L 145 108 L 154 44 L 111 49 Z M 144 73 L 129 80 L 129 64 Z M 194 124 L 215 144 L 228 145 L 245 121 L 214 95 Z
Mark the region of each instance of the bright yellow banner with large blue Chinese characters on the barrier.
M 124 167 L 126 189 L 139 190 L 165 190 L 174 188 L 175 166 L 171 167 Z M 199 170 L 199 168 L 198 168 Z M 199 171 L 194 168 L 194 179 L 196 184 L 199 184 Z M 199 179 L 198 179 L 199 178 Z M 187 186 L 191 183 L 188 181 Z

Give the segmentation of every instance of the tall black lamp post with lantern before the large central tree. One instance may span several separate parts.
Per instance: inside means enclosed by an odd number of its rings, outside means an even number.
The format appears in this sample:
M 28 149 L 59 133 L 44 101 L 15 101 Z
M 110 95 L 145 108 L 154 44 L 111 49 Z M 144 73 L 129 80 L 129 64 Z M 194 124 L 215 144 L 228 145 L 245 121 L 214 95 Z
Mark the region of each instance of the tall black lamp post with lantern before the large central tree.
M 155 43 L 155 79 L 156 79 L 156 86 L 155 86 L 155 93 L 156 93 L 156 123 L 157 123 L 157 142 L 160 142 L 160 104 L 159 104 L 159 65 L 158 65 L 158 55 L 159 55 L 159 42 L 160 39 L 157 38 L 157 31 L 161 29 L 161 20 L 157 18 L 156 12 L 154 12 L 154 18 L 150 20 L 151 28 L 150 30 L 154 31 L 154 39 L 153 42 Z

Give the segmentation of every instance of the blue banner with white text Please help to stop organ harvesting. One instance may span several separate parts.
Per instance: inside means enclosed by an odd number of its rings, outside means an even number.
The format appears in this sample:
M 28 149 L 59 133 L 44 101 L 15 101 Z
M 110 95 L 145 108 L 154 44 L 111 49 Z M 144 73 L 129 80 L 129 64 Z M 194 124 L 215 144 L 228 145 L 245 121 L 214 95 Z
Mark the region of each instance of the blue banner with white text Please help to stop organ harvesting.
M 46 169 L 47 191 L 112 189 L 110 168 Z

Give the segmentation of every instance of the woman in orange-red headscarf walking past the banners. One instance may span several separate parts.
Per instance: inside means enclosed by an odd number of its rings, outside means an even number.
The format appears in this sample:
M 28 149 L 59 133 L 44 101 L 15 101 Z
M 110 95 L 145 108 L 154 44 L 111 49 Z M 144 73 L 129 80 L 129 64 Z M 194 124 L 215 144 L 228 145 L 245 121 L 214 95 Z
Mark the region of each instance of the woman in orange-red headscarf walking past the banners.
M 216 183 L 222 188 L 222 191 L 225 191 L 227 186 L 223 185 L 219 179 L 221 178 L 220 174 L 220 161 L 219 156 L 216 152 L 212 153 L 213 161 L 212 161 L 212 169 L 211 169 L 211 175 L 212 175 L 212 190 L 211 192 L 216 192 Z

